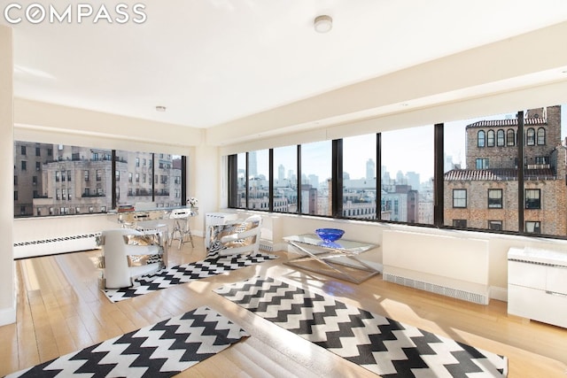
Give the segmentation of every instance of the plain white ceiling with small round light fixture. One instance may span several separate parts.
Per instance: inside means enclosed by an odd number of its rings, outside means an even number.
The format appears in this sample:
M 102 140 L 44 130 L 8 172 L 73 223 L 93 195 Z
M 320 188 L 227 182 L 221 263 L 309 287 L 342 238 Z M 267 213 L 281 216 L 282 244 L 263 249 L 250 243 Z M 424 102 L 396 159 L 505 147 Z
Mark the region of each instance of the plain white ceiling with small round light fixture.
M 72 4 L 71 23 L 32 24 L 28 4 Z M 567 19 L 564 0 L 146 0 L 146 19 L 19 2 L 14 94 L 52 104 L 213 127 Z M 110 16 L 116 4 L 89 2 Z M 13 4 L 0 0 L 4 9 Z M 329 14 L 333 28 L 315 33 Z M 156 112 L 164 105 L 167 112 Z

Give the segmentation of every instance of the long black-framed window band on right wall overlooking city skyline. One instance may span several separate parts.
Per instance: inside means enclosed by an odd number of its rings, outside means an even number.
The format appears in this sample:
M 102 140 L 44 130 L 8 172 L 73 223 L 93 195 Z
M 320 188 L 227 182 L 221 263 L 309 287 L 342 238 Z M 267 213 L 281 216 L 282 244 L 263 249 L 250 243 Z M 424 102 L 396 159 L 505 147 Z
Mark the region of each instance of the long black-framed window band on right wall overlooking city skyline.
M 553 105 L 278 147 L 266 200 L 276 212 L 567 238 L 556 216 L 567 212 L 567 150 L 548 148 L 563 143 L 566 119 Z M 229 188 L 243 193 L 246 154 L 230 157 Z

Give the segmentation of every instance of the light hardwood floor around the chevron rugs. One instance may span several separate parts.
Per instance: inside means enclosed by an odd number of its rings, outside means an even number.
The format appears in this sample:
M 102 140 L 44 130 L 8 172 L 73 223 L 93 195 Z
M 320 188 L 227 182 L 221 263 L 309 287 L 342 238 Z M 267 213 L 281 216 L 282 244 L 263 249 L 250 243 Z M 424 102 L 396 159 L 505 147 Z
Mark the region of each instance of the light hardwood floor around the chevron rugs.
M 169 251 L 169 264 L 205 258 L 202 239 Z M 100 251 L 16 261 L 18 321 L 0 327 L 0 375 L 34 366 L 208 305 L 251 337 L 178 376 L 377 376 L 214 294 L 224 283 L 269 275 L 370 312 L 509 358 L 509 377 L 567 377 L 567 329 L 509 316 L 506 303 L 474 305 L 383 282 L 356 285 L 284 266 L 288 257 L 112 304 L 99 290 Z

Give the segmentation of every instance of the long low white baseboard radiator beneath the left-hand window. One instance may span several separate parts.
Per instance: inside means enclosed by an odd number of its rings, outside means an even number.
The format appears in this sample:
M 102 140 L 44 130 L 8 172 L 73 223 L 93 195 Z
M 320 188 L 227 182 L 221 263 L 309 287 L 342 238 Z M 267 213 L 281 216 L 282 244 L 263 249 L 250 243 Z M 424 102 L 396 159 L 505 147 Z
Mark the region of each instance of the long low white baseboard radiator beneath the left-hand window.
M 100 233 L 59 236 L 49 239 L 14 243 L 14 258 L 56 255 L 58 253 L 89 251 L 97 249 Z

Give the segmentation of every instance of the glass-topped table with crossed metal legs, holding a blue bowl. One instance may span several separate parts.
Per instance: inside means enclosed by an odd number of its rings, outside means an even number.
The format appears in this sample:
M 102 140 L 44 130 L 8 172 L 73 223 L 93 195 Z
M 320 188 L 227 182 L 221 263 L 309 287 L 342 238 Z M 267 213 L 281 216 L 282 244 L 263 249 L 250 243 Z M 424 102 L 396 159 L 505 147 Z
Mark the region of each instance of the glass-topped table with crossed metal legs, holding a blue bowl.
M 358 258 L 362 252 L 377 248 L 376 244 L 346 239 L 323 243 L 315 234 L 285 236 L 283 240 L 291 245 L 292 252 L 299 254 L 286 265 L 354 283 L 364 282 L 380 273 Z

